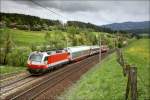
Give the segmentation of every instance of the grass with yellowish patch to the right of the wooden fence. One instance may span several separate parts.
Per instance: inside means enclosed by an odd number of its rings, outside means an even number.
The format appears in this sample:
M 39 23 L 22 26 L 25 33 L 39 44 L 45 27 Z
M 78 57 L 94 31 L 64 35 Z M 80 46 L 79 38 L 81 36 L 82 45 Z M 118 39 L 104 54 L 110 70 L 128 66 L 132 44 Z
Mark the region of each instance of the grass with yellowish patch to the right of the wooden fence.
M 124 50 L 128 63 L 137 67 L 139 99 L 148 98 L 150 90 L 150 39 L 132 43 Z M 150 99 L 150 96 L 149 96 Z

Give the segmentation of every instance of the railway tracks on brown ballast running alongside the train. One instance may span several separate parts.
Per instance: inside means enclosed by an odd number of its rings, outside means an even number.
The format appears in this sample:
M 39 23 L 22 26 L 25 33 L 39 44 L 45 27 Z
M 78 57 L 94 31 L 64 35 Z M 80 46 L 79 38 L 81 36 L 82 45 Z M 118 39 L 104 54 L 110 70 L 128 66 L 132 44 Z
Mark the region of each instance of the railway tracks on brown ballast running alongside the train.
M 106 55 L 103 55 L 103 57 L 104 56 Z M 52 73 L 47 73 L 46 75 L 43 75 L 39 78 L 28 77 L 26 79 L 22 79 L 20 82 L 19 81 L 15 82 L 15 84 L 17 83 L 17 85 L 10 84 L 7 85 L 6 87 L 3 86 L 1 92 L 1 99 L 11 99 L 11 100 L 35 99 L 38 95 L 42 94 L 48 88 L 53 87 L 62 80 L 66 79 L 69 75 L 78 72 L 82 68 L 85 68 L 85 66 L 90 66 L 93 63 L 96 64 L 97 62 L 98 62 L 98 55 L 94 55 L 86 59 L 83 59 L 79 62 L 66 65 L 65 67 L 62 67 L 59 70 L 56 70 Z M 25 87 L 24 85 L 27 84 L 28 87 Z M 15 92 L 9 94 L 10 91 Z

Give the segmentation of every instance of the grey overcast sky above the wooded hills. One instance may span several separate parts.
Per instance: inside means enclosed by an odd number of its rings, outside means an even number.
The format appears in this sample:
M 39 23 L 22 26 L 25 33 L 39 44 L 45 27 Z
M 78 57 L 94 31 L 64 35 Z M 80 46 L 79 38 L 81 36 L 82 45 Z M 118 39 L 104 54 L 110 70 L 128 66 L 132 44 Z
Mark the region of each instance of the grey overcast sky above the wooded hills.
M 150 0 L 32 0 L 55 13 L 30 0 L 0 1 L 1 12 L 29 14 L 63 22 L 76 20 L 103 25 L 150 20 Z

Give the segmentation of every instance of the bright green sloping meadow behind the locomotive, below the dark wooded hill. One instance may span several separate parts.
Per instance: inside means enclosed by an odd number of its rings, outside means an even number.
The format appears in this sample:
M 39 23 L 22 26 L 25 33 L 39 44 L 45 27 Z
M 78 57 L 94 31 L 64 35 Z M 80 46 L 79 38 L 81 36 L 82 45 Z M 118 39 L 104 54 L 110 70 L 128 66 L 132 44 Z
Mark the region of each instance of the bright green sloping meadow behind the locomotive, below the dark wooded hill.
M 33 32 L 10 29 L 14 43 L 17 46 L 40 45 L 44 43 L 44 32 Z

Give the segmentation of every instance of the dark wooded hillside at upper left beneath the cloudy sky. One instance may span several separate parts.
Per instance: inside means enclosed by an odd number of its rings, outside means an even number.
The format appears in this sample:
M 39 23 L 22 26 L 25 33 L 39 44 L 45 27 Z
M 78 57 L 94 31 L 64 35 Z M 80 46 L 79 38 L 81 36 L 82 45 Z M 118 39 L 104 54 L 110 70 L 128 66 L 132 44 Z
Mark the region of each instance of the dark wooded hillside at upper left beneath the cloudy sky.
M 41 31 L 50 29 L 49 26 L 59 26 L 59 20 L 47 20 L 39 17 L 15 14 L 15 13 L 0 13 L 0 26 L 9 28 L 17 28 L 21 30 Z

